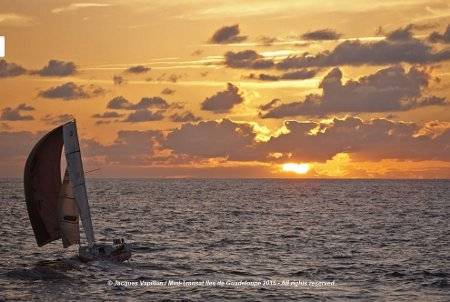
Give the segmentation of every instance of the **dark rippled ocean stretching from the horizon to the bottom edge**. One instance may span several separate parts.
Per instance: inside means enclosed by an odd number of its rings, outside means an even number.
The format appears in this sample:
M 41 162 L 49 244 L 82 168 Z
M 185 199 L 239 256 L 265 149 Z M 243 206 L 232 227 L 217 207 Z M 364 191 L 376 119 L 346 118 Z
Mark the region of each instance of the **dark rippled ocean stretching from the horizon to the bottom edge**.
M 0 300 L 448 301 L 449 180 L 88 179 L 122 264 L 38 248 L 0 180 Z

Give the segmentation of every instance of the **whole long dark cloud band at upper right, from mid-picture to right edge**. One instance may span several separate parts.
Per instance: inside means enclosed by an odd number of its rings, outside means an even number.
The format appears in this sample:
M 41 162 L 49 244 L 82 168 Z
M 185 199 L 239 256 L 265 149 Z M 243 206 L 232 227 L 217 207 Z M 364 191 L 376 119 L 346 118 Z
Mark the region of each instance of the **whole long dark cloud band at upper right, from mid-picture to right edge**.
M 290 56 L 278 63 L 271 59 L 264 59 L 254 50 L 229 51 L 225 53 L 224 64 L 232 68 L 269 69 L 276 67 L 286 70 L 340 65 L 386 65 L 401 62 L 427 64 L 450 59 L 450 49 L 433 50 L 431 45 L 423 41 L 407 38 L 408 31 L 405 29 L 395 31 L 390 35 L 389 39 L 376 42 L 347 40 L 331 51 L 323 51 L 315 55 L 304 53 L 300 56 Z

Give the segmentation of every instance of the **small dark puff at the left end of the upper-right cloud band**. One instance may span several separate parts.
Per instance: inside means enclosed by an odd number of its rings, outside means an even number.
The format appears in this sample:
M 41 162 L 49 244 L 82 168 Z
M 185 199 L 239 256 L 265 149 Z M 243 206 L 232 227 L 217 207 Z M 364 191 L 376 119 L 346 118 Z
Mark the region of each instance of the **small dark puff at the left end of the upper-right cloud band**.
M 233 68 L 268 69 L 274 67 L 275 63 L 270 59 L 264 59 L 254 50 L 243 50 L 225 53 L 225 65 Z

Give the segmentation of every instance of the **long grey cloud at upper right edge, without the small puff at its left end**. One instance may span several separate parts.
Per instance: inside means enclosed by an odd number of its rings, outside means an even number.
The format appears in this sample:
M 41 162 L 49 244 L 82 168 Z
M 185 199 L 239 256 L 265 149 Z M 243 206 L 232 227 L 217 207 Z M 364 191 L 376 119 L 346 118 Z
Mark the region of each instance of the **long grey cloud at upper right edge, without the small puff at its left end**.
M 398 38 L 397 35 L 396 38 Z M 449 59 L 450 49 L 433 51 L 431 46 L 417 39 L 381 40 L 367 43 L 354 40 L 344 41 L 332 51 L 288 57 L 277 63 L 276 67 L 298 69 L 339 65 L 385 65 L 400 62 L 426 64 Z

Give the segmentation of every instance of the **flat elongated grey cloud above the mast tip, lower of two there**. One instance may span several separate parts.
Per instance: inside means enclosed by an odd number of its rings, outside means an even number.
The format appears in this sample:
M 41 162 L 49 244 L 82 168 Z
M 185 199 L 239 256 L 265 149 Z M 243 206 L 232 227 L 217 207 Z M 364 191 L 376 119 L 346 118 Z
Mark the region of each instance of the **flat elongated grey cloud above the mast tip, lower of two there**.
M 105 90 L 99 86 L 78 86 L 74 82 L 67 82 L 65 84 L 40 91 L 38 96 L 47 99 L 63 99 L 68 101 L 76 99 L 88 99 L 102 95 L 104 92 Z

